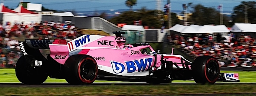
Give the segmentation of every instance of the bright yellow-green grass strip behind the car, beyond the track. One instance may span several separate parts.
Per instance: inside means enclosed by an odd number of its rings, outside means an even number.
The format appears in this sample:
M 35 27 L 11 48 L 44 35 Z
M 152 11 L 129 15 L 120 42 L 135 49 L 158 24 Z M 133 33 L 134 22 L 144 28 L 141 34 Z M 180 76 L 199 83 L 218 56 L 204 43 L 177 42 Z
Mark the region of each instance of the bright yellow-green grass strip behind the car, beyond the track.
M 256 72 L 246 71 L 221 71 L 223 73 L 239 73 L 239 80 L 242 83 L 256 82 Z M 98 81 L 95 82 L 115 82 L 116 81 Z M 193 80 L 174 80 L 173 83 L 178 82 L 194 82 Z M 0 83 L 20 83 L 15 75 L 15 69 L 0 69 Z M 45 83 L 67 83 L 65 79 L 53 79 L 48 77 Z

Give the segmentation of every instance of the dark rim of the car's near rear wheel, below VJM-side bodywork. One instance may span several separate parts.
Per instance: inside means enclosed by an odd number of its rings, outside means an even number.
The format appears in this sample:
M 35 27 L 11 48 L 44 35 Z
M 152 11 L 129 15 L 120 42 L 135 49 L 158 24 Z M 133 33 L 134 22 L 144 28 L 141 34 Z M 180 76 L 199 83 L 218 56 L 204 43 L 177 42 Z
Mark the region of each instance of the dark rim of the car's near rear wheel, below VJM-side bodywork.
M 85 80 L 93 80 L 96 74 L 96 64 L 91 60 L 85 60 L 80 67 L 80 76 Z

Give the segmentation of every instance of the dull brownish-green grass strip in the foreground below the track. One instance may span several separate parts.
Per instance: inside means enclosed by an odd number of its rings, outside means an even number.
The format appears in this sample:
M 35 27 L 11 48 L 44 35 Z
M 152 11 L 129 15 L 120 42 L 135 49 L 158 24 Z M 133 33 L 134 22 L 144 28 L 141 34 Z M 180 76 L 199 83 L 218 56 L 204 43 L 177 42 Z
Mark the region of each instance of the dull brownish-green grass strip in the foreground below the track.
M 178 95 L 193 93 L 253 93 L 256 92 L 256 85 L 108 85 L 77 87 L 0 87 L 0 90 L 1 96 L 116 96 L 145 94 Z

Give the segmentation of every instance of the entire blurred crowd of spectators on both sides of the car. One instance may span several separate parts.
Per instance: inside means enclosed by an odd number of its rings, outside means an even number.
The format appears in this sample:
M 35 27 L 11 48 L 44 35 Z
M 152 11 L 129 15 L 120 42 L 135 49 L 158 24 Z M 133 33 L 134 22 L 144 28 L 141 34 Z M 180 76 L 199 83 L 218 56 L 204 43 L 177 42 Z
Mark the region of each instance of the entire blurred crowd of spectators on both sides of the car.
M 22 56 L 18 40 L 20 37 L 30 39 L 58 38 L 73 39 L 81 32 L 73 24 L 60 22 L 41 23 L 0 23 L 0 67 L 14 67 Z M 181 48 L 194 59 L 202 55 L 211 55 L 218 59 L 221 66 L 256 66 L 256 40 L 244 33 L 233 33 L 222 37 L 217 34 L 174 34 L 168 36 L 170 44 Z

